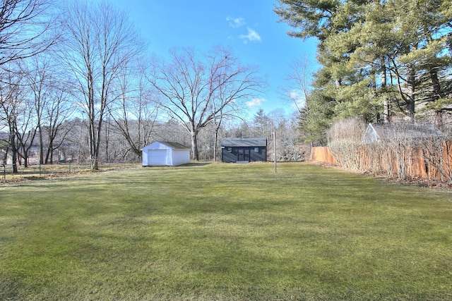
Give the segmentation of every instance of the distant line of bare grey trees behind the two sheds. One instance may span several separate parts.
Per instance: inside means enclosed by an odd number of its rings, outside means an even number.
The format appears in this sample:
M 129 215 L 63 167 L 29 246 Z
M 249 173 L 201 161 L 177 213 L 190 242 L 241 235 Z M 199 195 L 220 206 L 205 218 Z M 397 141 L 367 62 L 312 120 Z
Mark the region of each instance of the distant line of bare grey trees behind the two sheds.
M 264 118 L 263 122 L 261 118 Z M 27 167 L 30 164 L 55 164 L 90 162 L 89 125 L 86 119 L 72 117 L 58 124 L 58 130 L 52 131 L 47 123 L 43 124 L 42 140 L 37 139 L 41 135 L 34 129 L 26 133 L 20 133 L 23 139 L 17 140 L 16 164 Z M 127 121 L 127 131 L 114 121 L 112 116 L 107 116 L 103 130 L 100 133 L 102 148 L 98 159 L 104 163 L 139 163 L 141 162 L 141 146 L 153 141 L 176 141 L 183 145 L 190 145 L 191 135 L 186 128 L 177 121 L 166 122 L 148 119 L 145 121 Z M 230 120 L 225 121 L 219 128 L 211 122 L 203 128 L 198 137 L 200 145 L 198 149 L 199 160 L 221 161 L 220 142 L 223 137 L 266 137 L 268 140 L 268 152 L 273 154 L 273 131 L 277 135 L 278 161 L 304 161 L 309 155 L 304 144 L 299 141 L 297 130 L 297 115 L 286 116 L 281 111 L 272 111 L 268 115 L 259 111 L 252 121 Z M 4 135 L 1 135 L 4 134 Z M 6 156 L 11 157 L 11 145 L 8 135 L 0 133 L 1 160 L 7 162 Z M 147 135 L 149 134 L 149 135 Z M 125 136 L 129 137 L 126 138 Z M 216 140 L 215 140 L 216 135 Z M 138 151 L 128 141 L 136 141 Z M 138 143 L 138 141 L 142 141 Z M 43 154 L 43 156 L 41 156 Z M 271 157 L 273 159 L 273 156 Z M 11 160 L 11 159 L 10 159 Z

